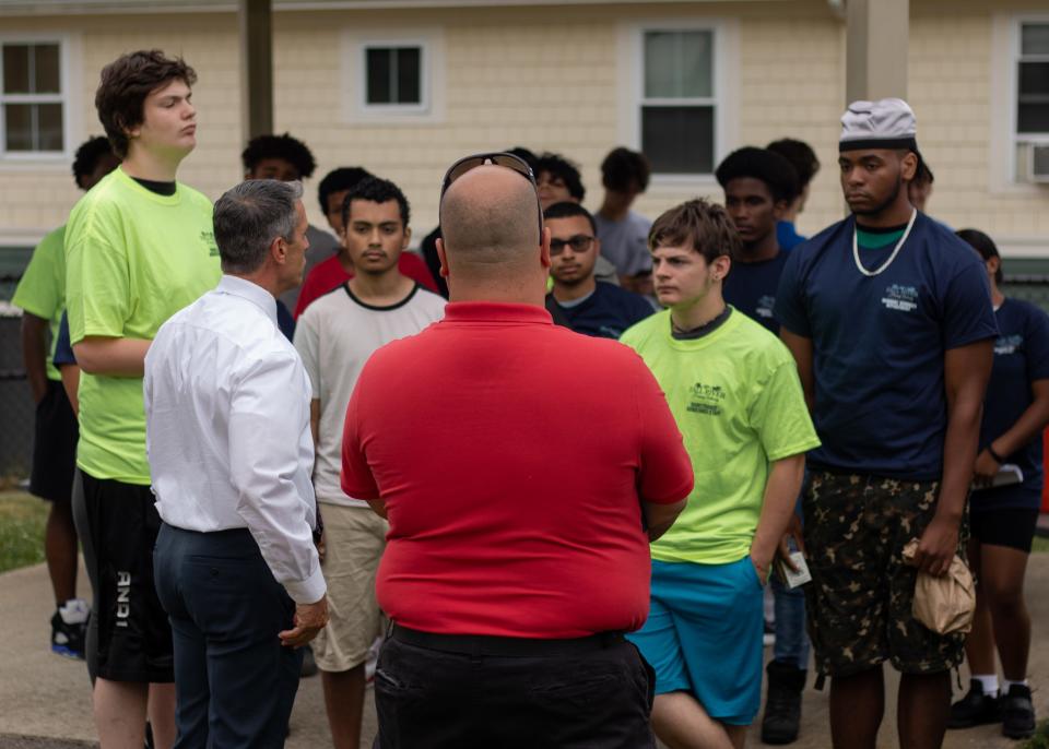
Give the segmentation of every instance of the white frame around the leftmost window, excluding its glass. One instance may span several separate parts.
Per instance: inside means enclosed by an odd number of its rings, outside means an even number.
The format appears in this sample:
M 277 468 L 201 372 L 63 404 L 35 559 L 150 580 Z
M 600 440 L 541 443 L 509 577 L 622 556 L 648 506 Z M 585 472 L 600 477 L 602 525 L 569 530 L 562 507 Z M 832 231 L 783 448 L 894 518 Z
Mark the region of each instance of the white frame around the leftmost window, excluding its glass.
M 76 133 L 80 132 L 80 107 L 78 93 L 80 75 L 72 64 L 79 57 L 79 38 L 66 33 L 0 34 L 0 46 L 7 45 L 58 45 L 59 93 L 56 94 L 4 94 L 0 91 L 0 165 L 25 166 L 61 164 L 68 166 L 76 151 Z M 0 58 L 0 74 L 3 61 Z M 2 81 L 2 79 L 0 79 Z M 2 86 L 2 83 L 0 83 Z M 62 106 L 62 150 L 61 151 L 8 151 L 5 104 L 59 103 Z

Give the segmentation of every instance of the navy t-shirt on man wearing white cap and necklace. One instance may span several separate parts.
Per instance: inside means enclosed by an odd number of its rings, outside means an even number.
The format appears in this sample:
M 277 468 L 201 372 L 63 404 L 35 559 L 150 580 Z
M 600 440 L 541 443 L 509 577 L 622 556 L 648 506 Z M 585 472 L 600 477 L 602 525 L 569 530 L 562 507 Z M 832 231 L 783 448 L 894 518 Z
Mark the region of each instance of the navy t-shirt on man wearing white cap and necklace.
M 948 229 L 918 214 L 895 261 L 856 266 L 849 217 L 794 248 L 776 318 L 812 340 L 814 467 L 910 480 L 943 473 L 944 353 L 998 335 L 987 271 Z M 863 250 L 869 271 L 895 242 Z

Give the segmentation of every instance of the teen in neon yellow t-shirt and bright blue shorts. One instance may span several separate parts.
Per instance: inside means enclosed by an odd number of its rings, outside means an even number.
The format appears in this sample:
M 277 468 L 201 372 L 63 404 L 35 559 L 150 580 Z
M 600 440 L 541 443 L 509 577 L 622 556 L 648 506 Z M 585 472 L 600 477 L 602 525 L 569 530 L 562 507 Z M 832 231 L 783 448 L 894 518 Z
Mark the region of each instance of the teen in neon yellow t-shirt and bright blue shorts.
M 820 440 L 793 357 L 721 296 L 740 248 L 724 210 L 683 203 L 649 243 L 669 309 L 621 340 L 662 387 L 695 488 L 652 544 L 648 620 L 628 637 L 656 670 L 657 736 L 742 746 L 762 699 L 763 586 Z

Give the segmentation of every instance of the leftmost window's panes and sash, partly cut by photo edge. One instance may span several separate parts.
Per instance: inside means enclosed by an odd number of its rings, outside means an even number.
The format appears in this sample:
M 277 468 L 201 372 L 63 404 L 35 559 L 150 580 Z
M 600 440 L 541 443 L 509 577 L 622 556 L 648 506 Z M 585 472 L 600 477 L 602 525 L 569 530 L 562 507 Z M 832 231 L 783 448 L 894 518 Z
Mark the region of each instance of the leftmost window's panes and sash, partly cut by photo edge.
M 62 79 L 60 41 L 0 41 L 0 154 L 66 151 Z

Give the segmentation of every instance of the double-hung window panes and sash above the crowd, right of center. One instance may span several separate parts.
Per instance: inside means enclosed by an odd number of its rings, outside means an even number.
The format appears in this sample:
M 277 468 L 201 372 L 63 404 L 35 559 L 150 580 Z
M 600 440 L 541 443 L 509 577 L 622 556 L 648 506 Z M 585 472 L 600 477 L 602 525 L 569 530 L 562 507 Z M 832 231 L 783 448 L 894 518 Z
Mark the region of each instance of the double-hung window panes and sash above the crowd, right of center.
M 714 28 L 641 33 L 640 147 L 655 174 L 714 171 L 716 43 Z

